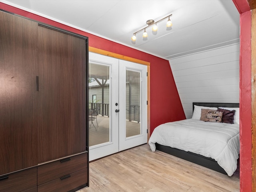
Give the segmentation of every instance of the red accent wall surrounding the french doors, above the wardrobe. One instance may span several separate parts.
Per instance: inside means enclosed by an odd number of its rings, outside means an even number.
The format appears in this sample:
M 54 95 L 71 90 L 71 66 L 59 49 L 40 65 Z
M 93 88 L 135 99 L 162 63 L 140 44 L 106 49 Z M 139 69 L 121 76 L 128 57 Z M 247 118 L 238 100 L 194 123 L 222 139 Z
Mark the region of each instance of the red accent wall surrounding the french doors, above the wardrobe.
M 150 133 L 159 124 L 186 118 L 168 60 L 100 38 L 1 2 L 0 9 L 87 36 L 89 46 L 91 47 L 150 62 Z

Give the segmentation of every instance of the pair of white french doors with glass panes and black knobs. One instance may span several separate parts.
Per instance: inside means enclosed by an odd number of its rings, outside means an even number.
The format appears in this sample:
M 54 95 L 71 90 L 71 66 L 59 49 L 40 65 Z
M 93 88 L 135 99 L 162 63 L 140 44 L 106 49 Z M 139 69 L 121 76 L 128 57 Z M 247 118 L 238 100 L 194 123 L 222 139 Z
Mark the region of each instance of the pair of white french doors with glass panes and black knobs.
M 145 65 L 89 52 L 89 161 L 147 142 L 146 74 Z

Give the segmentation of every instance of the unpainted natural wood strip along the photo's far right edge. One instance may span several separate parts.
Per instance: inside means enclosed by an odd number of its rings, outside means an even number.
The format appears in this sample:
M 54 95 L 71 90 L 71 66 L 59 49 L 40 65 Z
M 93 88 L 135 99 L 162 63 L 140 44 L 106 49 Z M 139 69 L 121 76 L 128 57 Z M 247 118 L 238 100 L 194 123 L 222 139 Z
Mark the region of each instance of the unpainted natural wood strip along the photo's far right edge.
M 256 191 L 256 10 L 252 10 L 252 191 Z

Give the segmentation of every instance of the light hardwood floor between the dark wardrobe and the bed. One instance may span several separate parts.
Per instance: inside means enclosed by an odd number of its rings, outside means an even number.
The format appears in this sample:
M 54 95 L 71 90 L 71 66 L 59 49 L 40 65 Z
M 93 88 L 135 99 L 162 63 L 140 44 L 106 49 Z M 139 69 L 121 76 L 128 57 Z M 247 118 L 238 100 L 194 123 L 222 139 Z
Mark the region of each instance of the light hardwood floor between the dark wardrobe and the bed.
M 89 163 L 89 187 L 78 192 L 239 192 L 239 172 L 229 177 L 148 144 Z

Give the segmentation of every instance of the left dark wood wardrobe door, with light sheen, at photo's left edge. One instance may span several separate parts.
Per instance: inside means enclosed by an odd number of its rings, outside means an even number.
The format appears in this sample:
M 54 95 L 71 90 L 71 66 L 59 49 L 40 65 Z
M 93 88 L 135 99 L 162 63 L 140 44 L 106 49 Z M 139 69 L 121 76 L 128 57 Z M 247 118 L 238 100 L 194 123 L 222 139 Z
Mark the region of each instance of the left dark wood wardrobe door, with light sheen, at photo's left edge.
M 36 22 L 0 11 L 0 175 L 37 165 Z

